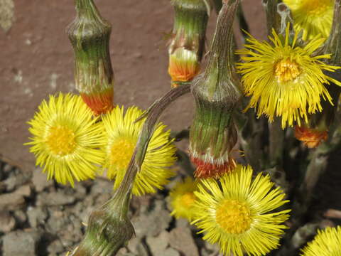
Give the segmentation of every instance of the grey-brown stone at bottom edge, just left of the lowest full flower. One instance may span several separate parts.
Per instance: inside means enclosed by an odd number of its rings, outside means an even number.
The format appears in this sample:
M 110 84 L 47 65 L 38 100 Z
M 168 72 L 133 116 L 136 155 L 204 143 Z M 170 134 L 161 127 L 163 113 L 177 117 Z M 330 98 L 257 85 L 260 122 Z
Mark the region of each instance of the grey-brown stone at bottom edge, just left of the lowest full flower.
M 195 245 L 189 228 L 174 228 L 169 234 L 171 247 L 186 256 L 199 256 L 197 246 Z

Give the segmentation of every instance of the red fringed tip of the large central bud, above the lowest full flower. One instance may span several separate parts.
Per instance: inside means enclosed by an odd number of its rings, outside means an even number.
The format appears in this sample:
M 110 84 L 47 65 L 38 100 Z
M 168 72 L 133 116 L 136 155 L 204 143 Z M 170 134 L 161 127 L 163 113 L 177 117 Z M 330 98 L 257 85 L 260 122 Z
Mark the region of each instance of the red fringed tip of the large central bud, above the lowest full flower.
M 196 157 L 191 157 L 190 160 L 197 166 L 194 173 L 196 178 L 219 178 L 223 174 L 233 171 L 237 166 L 232 158 L 229 158 L 229 161 L 224 164 L 211 164 Z

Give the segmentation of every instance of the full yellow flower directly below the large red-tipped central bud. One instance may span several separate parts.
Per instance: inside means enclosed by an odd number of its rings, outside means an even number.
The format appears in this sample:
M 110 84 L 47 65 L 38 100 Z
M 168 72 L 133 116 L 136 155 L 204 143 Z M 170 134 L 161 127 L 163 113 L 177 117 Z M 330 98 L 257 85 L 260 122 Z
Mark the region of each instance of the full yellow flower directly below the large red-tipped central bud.
M 203 239 L 217 242 L 224 255 L 266 255 L 278 247 L 290 210 L 276 209 L 288 201 L 269 176 L 252 180 L 250 166 L 237 166 L 220 183 L 202 180 L 195 191 L 195 220 Z

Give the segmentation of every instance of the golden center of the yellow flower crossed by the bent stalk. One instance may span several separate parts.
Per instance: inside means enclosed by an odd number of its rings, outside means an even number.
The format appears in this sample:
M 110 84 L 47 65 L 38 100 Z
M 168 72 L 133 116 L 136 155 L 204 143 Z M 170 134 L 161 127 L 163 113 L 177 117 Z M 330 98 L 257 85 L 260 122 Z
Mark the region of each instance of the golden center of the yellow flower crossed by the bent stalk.
M 117 169 L 126 169 L 134 153 L 136 143 L 132 139 L 121 138 L 112 144 L 110 149 L 111 164 Z

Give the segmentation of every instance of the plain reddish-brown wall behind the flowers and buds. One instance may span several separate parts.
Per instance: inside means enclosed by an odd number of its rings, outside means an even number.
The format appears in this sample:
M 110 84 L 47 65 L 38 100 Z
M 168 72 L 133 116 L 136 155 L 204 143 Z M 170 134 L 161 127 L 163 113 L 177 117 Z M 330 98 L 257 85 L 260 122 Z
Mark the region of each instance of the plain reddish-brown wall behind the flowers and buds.
M 115 76 L 114 102 L 146 108 L 171 88 L 164 39 L 173 28 L 170 0 L 95 0 L 112 23 L 110 50 Z M 250 31 L 265 38 L 261 1 L 244 0 Z M 72 0 L 0 0 L 0 159 L 34 169 L 28 152 L 28 122 L 49 94 L 76 92 L 73 51 L 65 27 L 75 16 Z M 212 11 L 207 47 L 216 21 Z M 240 40 L 239 40 L 240 43 Z M 188 127 L 193 114 L 187 95 L 163 114 L 173 130 Z

